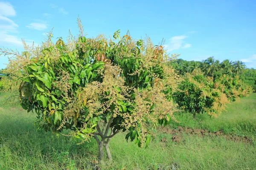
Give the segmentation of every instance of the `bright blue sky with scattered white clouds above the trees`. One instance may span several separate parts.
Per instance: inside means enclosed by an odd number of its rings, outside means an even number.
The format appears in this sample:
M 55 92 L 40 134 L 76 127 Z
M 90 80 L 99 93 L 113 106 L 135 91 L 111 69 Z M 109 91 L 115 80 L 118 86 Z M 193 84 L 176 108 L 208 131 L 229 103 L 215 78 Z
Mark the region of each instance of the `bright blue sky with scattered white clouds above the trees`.
M 129 30 L 154 44 L 165 39 L 165 49 L 182 59 L 214 56 L 256 68 L 255 0 L 0 0 L 0 47 L 22 51 L 21 39 L 40 44 L 52 27 L 55 38 L 77 34 L 78 15 L 87 37 Z M 6 62 L 0 56 L 0 68 Z

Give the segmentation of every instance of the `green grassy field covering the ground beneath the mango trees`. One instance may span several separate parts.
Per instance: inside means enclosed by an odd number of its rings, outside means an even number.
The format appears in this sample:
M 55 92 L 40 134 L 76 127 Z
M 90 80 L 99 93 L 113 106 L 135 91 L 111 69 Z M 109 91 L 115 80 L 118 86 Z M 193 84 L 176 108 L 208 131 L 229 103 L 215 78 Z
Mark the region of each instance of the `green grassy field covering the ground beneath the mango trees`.
M 36 131 L 35 114 L 26 113 L 19 105 L 3 104 L 0 96 L 0 169 L 109 169 L 109 170 L 253 170 L 256 169 L 256 94 L 228 105 L 218 118 L 177 113 L 180 123 L 169 129 L 189 127 L 204 129 L 207 135 L 181 132 L 180 142 L 174 134 L 161 129 L 147 149 L 126 142 L 120 133 L 110 142 L 113 163 L 97 165 L 97 145 L 77 145 L 66 136 Z M 167 128 L 167 129 L 168 129 Z M 215 136 L 221 130 L 225 135 Z M 247 136 L 250 142 L 231 140 L 226 135 Z

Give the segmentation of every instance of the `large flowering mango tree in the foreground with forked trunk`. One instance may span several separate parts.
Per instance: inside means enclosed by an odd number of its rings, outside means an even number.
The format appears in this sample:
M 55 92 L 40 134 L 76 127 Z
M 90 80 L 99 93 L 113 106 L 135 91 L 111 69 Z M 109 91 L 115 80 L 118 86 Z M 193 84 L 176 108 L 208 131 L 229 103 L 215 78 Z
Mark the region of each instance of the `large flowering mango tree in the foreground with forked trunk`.
M 179 77 L 167 66 L 174 56 L 149 38 L 119 33 L 112 40 L 87 38 L 81 31 L 66 44 L 61 38 L 53 43 L 49 34 L 40 48 L 19 55 L 27 62 L 17 67 L 20 104 L 37 113 L 38 128 L 70 129 L 81 143 L 95 138 L 99 161 L 104 147 L 112 160 L 108 144 L 117 133 L 127 131 L 125 139 L 147 147 L 157 124 L 176 121 L 172 93 Z

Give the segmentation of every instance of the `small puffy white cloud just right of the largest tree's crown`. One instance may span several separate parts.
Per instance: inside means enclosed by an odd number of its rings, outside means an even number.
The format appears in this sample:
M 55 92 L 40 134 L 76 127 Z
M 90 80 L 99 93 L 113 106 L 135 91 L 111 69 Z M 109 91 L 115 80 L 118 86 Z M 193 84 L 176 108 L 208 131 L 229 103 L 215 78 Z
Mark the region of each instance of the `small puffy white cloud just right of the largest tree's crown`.
M 169 43 L 165 44 L 164 47 L 167 51 L 173 51 L 180 48 L 189 48 L 191 44 L 184 44 L 184 39 L 187 38 L 185 35 L 175 36 L 169 39 Z

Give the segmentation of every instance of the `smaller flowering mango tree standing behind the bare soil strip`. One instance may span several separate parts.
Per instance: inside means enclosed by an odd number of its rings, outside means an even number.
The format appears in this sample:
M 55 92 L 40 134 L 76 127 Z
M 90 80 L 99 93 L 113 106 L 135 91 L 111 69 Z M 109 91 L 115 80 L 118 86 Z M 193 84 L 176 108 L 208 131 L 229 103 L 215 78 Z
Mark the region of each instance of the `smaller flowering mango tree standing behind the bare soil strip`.
M 181 109 L 192 113 L 194 119 L 196 114 L 204 112 L 217 116 L 228 102 L 227 96 L 214 88 L 213 78 L 204 77 L 200 71 L 185 74 L 179 89 L 174 95 L 175 102 Z

